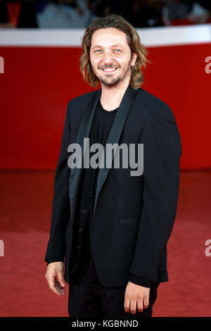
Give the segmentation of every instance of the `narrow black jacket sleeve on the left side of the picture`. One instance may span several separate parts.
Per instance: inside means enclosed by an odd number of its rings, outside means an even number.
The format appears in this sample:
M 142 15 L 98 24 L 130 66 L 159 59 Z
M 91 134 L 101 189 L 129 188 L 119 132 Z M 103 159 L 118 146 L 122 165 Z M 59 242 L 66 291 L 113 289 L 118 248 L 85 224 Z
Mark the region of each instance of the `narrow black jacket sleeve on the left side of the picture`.
M 70 102 L 66 108 L 65 124 L 60 146 L 60 154 L 56 166 L 53 183 L 53 206 L 51 215 L 51 230 L 46 249 L 45 261 L 64 261 L 65 231 L 70 218 L 68 145 L 70 144 Z

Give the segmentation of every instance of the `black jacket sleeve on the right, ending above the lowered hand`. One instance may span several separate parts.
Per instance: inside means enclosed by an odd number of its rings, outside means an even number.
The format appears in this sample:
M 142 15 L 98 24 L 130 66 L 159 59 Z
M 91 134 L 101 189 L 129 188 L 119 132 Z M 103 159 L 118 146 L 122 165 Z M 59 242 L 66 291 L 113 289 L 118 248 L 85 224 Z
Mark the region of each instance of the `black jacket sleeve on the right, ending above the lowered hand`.
M 146 120 L 143 144 L 143 208 L 129 272 L 158 282 L 179 195 L 181 139 L 174 113 L 163 103 Z

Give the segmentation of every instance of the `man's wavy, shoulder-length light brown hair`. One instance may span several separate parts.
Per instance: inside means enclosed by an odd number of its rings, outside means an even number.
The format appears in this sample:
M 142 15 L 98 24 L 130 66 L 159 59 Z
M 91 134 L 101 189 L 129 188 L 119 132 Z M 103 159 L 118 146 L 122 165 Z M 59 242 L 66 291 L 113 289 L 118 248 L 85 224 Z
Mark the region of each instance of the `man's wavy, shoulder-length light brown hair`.
M 120 15 L 110 14 L 103 18 L 94 20 L 84 33 L 82 39 L 82 56 L 80 58 L 80 69 L 84 80 L 91 86 L 98 86 L 98 77 L 96 77 L 90 61 L 91 37 L 99 29 L 106 29 L 107 27 L 115 27 L 122 31 L 127 36 L 127 43 L 132 53 L 138 54 L 136 63 L 132 67 L 130 85 L 134 89 L 138 89 L 143 84 L 143 73 L 141 72 L 142 65 L 145 67 L 148 59 L 146 55 L 148 51 L 141 44 L 138 32 L 127 20 Z

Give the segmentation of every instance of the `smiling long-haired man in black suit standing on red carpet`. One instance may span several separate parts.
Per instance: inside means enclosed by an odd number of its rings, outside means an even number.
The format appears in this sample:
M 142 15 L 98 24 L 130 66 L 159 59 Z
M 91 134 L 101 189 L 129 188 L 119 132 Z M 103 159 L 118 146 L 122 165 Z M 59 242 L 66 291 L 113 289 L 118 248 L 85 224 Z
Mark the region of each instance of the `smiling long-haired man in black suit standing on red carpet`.
M 152 316 L 158 285 L 168 280 L 167 241 L 179 194 L 179 130 L 167 104 L 140 87 L 147 52 L 126 20 L 118 15 L 96 19 L 84 33 L 82 50 L 84 79 L 94 87 L 100 81 L 101 89 L 68 104 L 46 280 L 58 295 L 69 283 L 70 316 Z M 143 173 L 132 175 L 134 167 L 131 162 L 125 166 L 125 160 L 119 168 L 74 168 L 70 151 L 77 146 L 72 144 L 82 146 L 84 161 L 84 138 L 92 147 L 143 144 Z

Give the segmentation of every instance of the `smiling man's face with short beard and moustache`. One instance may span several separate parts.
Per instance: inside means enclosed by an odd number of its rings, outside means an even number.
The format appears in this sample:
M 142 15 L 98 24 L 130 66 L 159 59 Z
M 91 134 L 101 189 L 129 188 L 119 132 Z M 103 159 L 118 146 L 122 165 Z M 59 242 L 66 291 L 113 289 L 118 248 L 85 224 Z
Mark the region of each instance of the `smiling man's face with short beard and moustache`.
M 108 27 L 92 35 L 90 60 L 98 80 L 113 86 L 129 80 L 136 54 L 131 54 L 124 32 Z

